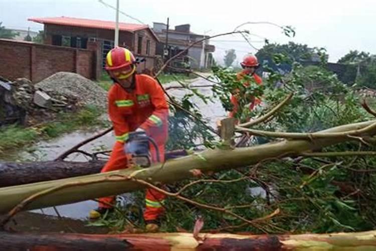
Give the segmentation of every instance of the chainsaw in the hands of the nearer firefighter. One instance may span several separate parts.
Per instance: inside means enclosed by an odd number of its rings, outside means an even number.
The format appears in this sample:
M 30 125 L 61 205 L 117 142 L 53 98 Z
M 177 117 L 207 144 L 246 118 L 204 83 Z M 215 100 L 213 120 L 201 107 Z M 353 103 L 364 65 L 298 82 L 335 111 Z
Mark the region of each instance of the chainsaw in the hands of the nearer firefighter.
M 124 146 L 124 152 L 132 165 L 142 168 L 151 166 L 149 143 L 153 145 L 157 161 L 160 162 L 158 147 L 152 138 L 148 137 L 144 131 L 129 133 L 128 140 Z

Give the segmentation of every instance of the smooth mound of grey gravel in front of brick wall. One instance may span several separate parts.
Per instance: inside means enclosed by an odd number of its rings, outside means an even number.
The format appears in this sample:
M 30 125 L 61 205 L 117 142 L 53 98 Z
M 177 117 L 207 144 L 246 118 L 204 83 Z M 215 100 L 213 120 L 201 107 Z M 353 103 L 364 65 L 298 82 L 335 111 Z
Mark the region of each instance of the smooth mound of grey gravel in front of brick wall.
M 95 82 L 71 72 L 58 72 L 35 85 L 49 93 L 59 93 L 77 99 L 80 105 L 107 106 L 107 92 Z

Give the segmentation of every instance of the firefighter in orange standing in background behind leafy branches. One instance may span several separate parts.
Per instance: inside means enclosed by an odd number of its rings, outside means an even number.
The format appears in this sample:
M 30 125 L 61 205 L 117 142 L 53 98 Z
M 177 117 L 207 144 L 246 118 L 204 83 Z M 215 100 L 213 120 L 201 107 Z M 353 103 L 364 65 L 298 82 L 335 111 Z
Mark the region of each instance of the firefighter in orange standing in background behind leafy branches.
M 256 82 L 256 84 L 262 85 L 262 79 L 259 75 L 256 74 L 256 69 L 259 67 L 259 62 L 254 55 L 247 55 L 244 57 L 243 62 L 241 63 L 241 66 L 243 70 L 237 74 L 238 80 L 242 80 L 245 75 L 252 76 Z M 250 83 L 245 82 L 244 85 L 248 86 Z M 237 95 L 242 95 L 239 93 L 239 91 L 236 91 L 236 93 L 233 93 L 231 95 L 231 103 L 233 104 L 233 110 L 229 113 L 230 117 L 235 117 L 235 114 L 238 111 L 239 104 Z M 251 103 L 249 105 L 249 109 L 253 110 L 255 105 L 258 105 L 261 103 L 261 100 L 259 98 L 251 97 Z

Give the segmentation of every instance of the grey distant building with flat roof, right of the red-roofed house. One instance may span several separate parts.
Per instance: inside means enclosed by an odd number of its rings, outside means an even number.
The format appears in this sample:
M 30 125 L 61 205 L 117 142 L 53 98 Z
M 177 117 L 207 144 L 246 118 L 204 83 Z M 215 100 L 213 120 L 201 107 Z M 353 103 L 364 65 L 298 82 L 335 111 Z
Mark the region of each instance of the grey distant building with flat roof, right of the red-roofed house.
M 157 43 L 156 54 L 163 55 L 166 44 L 166 33 L 167 25 L 163 23 L 153 23 L 153 31 L 158 36 L 160 42 Z M 175 26 L 174 30 L 168 30 L 168 56 L 171 57 L 174 54 L 186 49 L 189 45 L 195 41 L 203 39 L 204 35 L 199 35 L 191 32 L 191 25 L 179 25 Z M 209 39 L 205 40 L 204 43 L 198 43 L 192 48 L 190 48 L 187 53 L 185 53 L 185 58 L 189 58 L 189 63 L 191 68 L 210 68 L 213 63 L 213 52 L 215 51 L 215 46 L 209 44 Z

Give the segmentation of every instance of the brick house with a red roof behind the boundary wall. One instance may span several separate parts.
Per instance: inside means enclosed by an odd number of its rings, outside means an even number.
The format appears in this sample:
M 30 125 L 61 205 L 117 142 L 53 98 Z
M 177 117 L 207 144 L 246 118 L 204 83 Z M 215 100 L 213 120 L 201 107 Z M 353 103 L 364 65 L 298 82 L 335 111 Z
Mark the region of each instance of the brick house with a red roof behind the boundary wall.
M 106 54 L 114 47 L 115 22 L 81 18 L 30 18 L 44 24 L 45 44 L 97 52 L 97 67 L 104 68 Z M 158 37 L 147 25 L 119 23 L 119 46 L 145 58 L 138 71 L 153 70 Z

